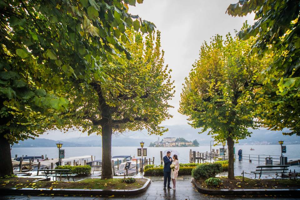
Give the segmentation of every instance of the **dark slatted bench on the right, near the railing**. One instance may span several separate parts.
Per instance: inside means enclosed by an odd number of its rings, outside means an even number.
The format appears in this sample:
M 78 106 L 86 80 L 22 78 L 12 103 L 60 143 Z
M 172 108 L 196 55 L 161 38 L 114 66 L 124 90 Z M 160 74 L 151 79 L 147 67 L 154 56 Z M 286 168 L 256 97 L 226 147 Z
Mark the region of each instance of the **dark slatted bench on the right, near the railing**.
M 259 178 L 262 176 L 262 174 L 276 174 L 276 178 L 278 177 L 278 174 L 284 175 L 284 173 L 287 173 L 288 167 L 290 165 L 263 165 L 263 166 L 257 166 L 256 170 L 254 172 L 255 178 L 256 175 L 259 174 Z

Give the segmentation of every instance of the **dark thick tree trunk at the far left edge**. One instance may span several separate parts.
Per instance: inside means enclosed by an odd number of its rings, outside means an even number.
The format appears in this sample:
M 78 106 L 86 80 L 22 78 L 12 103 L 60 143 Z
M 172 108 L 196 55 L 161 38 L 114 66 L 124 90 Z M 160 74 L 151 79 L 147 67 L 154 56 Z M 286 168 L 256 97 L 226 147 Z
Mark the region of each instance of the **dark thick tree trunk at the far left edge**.
M 4 133 L 6 134 L 6 133 Z M 12 175 L 12 157 L 10 154 L 10 144 L 6 138 L 3 137 L 3 133 L 0 135 L 0 162 L 1 170 L 0 177 L 5 175 Z

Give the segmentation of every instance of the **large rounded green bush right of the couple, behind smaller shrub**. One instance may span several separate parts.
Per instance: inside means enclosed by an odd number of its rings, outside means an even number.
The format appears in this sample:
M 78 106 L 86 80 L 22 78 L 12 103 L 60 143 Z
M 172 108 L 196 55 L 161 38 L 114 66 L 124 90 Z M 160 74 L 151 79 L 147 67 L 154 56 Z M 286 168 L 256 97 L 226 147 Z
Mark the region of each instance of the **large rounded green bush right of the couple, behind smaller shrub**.
M 192 177 L 197 180 L 207 179 L 215 177 L 220 172 L 222 172 L 221 163 L 202 163 L 192 170 Z

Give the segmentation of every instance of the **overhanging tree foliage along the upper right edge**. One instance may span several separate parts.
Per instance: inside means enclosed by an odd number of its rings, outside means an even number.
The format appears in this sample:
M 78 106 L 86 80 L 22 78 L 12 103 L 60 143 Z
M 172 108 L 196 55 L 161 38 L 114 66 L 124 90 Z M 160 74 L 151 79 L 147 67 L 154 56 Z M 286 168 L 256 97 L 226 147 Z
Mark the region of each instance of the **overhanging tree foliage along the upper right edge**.
M 289 128 L 286 134 L 300 135 L 300 1 L 242 0 L 227 12 L 232 16 L 254 12 L 255 23 L 237 35 L 242 40 L 257 37 L 252 55 L 274 54 L 262 73 L 260 120 L 272 130 Z

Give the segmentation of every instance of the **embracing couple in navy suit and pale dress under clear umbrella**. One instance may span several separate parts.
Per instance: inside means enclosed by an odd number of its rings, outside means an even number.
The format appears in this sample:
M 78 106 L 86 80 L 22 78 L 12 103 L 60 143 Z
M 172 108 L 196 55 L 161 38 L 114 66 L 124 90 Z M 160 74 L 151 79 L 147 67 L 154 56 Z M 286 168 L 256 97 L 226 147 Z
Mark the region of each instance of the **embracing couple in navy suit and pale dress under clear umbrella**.
M 168 181 L 168 188 L 170 187 L 170 182 L 172 179 L 173 182 L 173 190 L 176 188 L 176 178 L 178 176 L 179 171 L 179 162 L 178 162 L 178 155 L 179 153 L 174 150 L 166 150 L 164 152 L 166 156 L 163 157 L 163 189 L 167 187 Z

